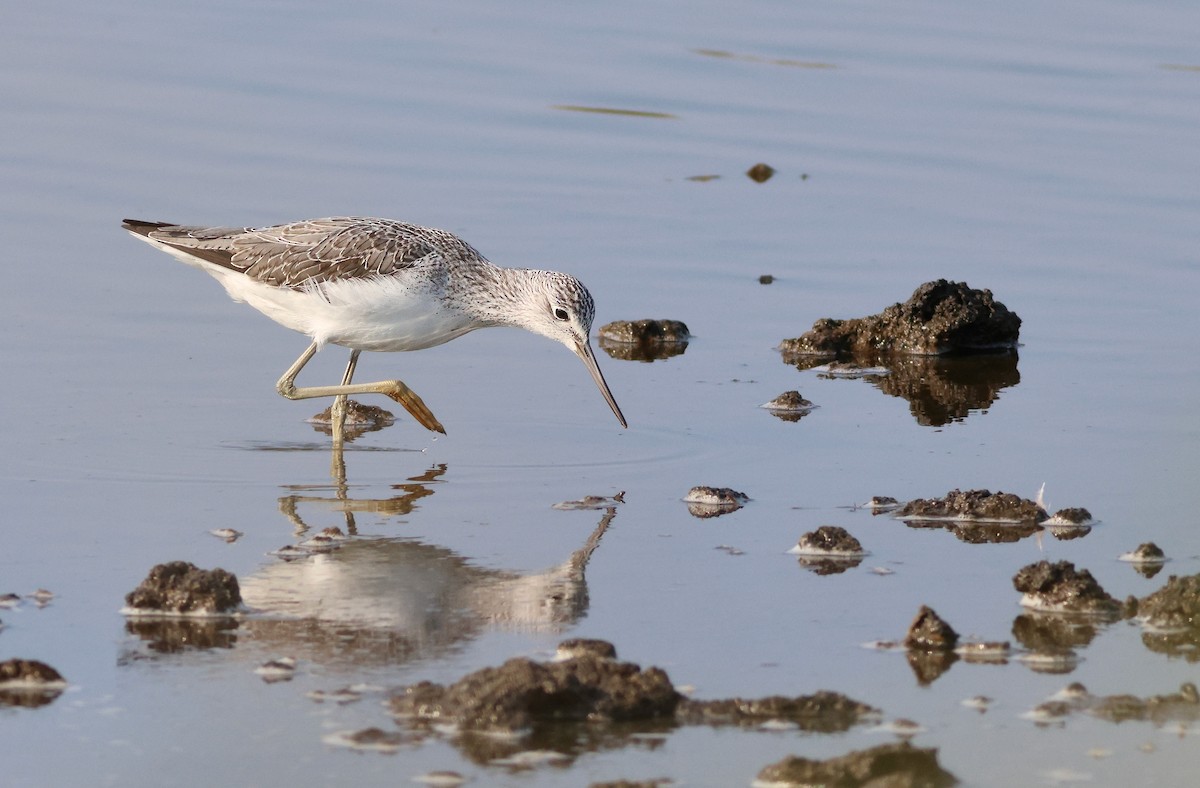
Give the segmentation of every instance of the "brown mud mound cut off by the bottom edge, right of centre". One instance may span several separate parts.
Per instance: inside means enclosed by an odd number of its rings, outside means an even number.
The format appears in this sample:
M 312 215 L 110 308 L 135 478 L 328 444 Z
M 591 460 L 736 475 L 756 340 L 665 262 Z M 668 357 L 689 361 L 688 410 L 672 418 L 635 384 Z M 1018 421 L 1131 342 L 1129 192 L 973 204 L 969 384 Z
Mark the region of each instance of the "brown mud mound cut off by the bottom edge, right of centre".
M 907 741 L 856 750 L 828 760 L 788 756 L 758 772 L 755 784 L 769 786 L 889 786 L 941 788 L 958 778 L 937 763 L 937 750 Z

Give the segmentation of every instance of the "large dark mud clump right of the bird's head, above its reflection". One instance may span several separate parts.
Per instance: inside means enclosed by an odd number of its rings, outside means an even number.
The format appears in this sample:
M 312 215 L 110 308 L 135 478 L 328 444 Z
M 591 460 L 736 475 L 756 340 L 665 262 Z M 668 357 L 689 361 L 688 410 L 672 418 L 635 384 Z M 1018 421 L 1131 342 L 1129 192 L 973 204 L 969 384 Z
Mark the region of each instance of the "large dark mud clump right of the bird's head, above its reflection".
M 796 339 L 780 344 L 784 353 L 847 357 L 878 353 L 942 355 L 1015 348 L 1021 319 L 964 282 L 937 279 L 917 288 L 904 303 L 880 314 L 850 320 L 823 318 Z

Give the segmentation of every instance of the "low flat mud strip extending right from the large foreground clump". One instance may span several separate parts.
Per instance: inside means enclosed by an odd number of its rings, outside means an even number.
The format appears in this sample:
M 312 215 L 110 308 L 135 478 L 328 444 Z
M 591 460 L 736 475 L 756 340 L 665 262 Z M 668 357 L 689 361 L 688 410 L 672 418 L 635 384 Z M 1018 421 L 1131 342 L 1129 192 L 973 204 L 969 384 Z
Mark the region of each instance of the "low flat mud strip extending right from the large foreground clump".
M 794 698 L 773 696 L 754 700 L 684 699 L 679 704 L 678 718 L 686 724 L 760 726 L 768 721 L 784 721 L 810 733 L 839 733 L 878 714 L 878 709 L 865 703 L 838 692 L 823 691 Z

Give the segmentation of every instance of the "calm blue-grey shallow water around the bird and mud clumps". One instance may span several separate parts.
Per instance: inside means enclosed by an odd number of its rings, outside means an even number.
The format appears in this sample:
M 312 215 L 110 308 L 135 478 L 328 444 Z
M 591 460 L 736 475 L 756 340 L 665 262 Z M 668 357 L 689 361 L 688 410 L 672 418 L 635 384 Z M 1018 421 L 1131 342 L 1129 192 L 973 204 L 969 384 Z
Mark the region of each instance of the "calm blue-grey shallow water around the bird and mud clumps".
M 967 784 L 1192 780 L 1194 726 L 1020 716 L 1069 681 L 1150 696 L 1196 680 L 1194 651 L 1151 651 L 1132 624 L 1096 627 L 1060 674 L 960 661 L 922 684 L 902 654 L 862 644 L 901 637 L 929 604 L 1019 645 L 1010 578 L 1042 558 L 1118 598 L 1200 571 L 1200 11 L 726 6 L 6 12 L 0 592 L 56 596 L 0 610 L 0 657 L 71 682 L 47 706 L 0 708 L 10 784 L 374 784 L 433 769 L 748 784 L 786 754 L 893 738 L 682 728 L 520 772 L 442 739 L 395 754 L 322 744 L 391 729 L 379 700 L 396 687 L 575 636 L 696 697 L 844 692 L 917 721 L 914 742 Z M 748 179 L 756 162 L 775 175 Z M 403 378 L 449 435 L 402 419 L 355 441 L 335 485 L 328 439 L 304 421 L 324 404 L 274 392 L 305 339 L 119 229 L 330 213 L 444 227 L 497 263 L 580 276 L 598 325 L 672 318 L 696 338 L 653 363 L 600 351 L 629 431 L 538 337 L 366 356 L 359 379 Z M 965 416 L 928 417 L 774 350 L 940 277 L 1024 319 L 1016 369 Z M 301 381 L 334 379 L 344 357 L 328 349 Z M 820 407 L 791 423 L 757 408 L 790 389 Z M 851 509 L 1043 482 L 1049 509 L 1102 523 L 974 545 Z M 695 485 L 752 500 L 697 519 L 680 500 Z M 551 509 L 618 492 L 608 522 Z M 805 571 L 786 551 L 821 524 L 871 554 Z M 328 525 L 371 539 L 266 555 Z M 1172 558 L 1152 579 L 1116 560 L 1148 540 Z M 235 572 L 281 615 L 186 649 L 139 636 L 124 595 L 173 559 Z M 293 680 L 254 674 L 283 655 Z M 354 682 L 384 690 L 306 696 Z M 995 699 L 983 714 L 961 705 L 977 694 Z

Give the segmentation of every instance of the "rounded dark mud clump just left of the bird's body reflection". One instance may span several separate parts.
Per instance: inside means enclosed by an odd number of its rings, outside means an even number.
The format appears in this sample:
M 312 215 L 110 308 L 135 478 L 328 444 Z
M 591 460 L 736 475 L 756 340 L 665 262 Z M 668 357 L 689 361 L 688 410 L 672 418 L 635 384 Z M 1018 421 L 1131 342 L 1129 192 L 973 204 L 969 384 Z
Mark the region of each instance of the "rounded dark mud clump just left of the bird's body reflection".
M 212 615 L 241 604 L 238 578 L 223 569 L 202 570 L 187 561 L 158 564 L 125 596 L 133 614 Z

